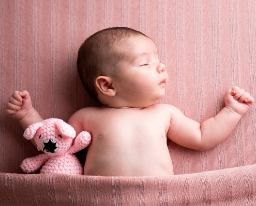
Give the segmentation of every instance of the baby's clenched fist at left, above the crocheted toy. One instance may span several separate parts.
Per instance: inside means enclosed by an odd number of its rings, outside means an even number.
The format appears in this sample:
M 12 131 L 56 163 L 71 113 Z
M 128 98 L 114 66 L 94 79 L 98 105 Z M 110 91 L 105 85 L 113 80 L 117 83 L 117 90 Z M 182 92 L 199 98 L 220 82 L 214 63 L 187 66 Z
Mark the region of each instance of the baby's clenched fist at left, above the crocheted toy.
M 22 119 L 27 114 L 33 112 L 31 97 L 27 91 L 15 91 L 9 97 L 9 101 L 6 103 L 5 113 L 17 120 Z

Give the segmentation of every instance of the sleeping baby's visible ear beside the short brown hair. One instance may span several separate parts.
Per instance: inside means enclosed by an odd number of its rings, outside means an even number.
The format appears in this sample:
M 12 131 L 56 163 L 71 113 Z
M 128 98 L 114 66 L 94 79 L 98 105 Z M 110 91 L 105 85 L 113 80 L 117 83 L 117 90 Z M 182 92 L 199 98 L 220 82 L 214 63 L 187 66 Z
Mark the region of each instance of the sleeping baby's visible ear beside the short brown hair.
M 115 88 L 112 84 L 112 79 L 106 76 L 99 76 L 95 80 L 96 87 L 106 96 L 115 96 Z

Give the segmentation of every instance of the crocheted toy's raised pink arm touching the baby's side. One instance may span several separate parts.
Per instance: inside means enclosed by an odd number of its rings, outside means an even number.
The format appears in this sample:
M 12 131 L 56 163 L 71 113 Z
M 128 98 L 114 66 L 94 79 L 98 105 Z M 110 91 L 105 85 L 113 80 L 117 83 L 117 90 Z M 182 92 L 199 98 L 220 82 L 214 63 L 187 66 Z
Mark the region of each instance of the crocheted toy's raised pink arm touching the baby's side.
M 67 151 L 69 154 L 76 153 L 85 147 L 87 147 L 91 143 L 91 134 L 89 132 L 82 131 L 77 135 L 76 140 L 74 140 L 74 144 Z

